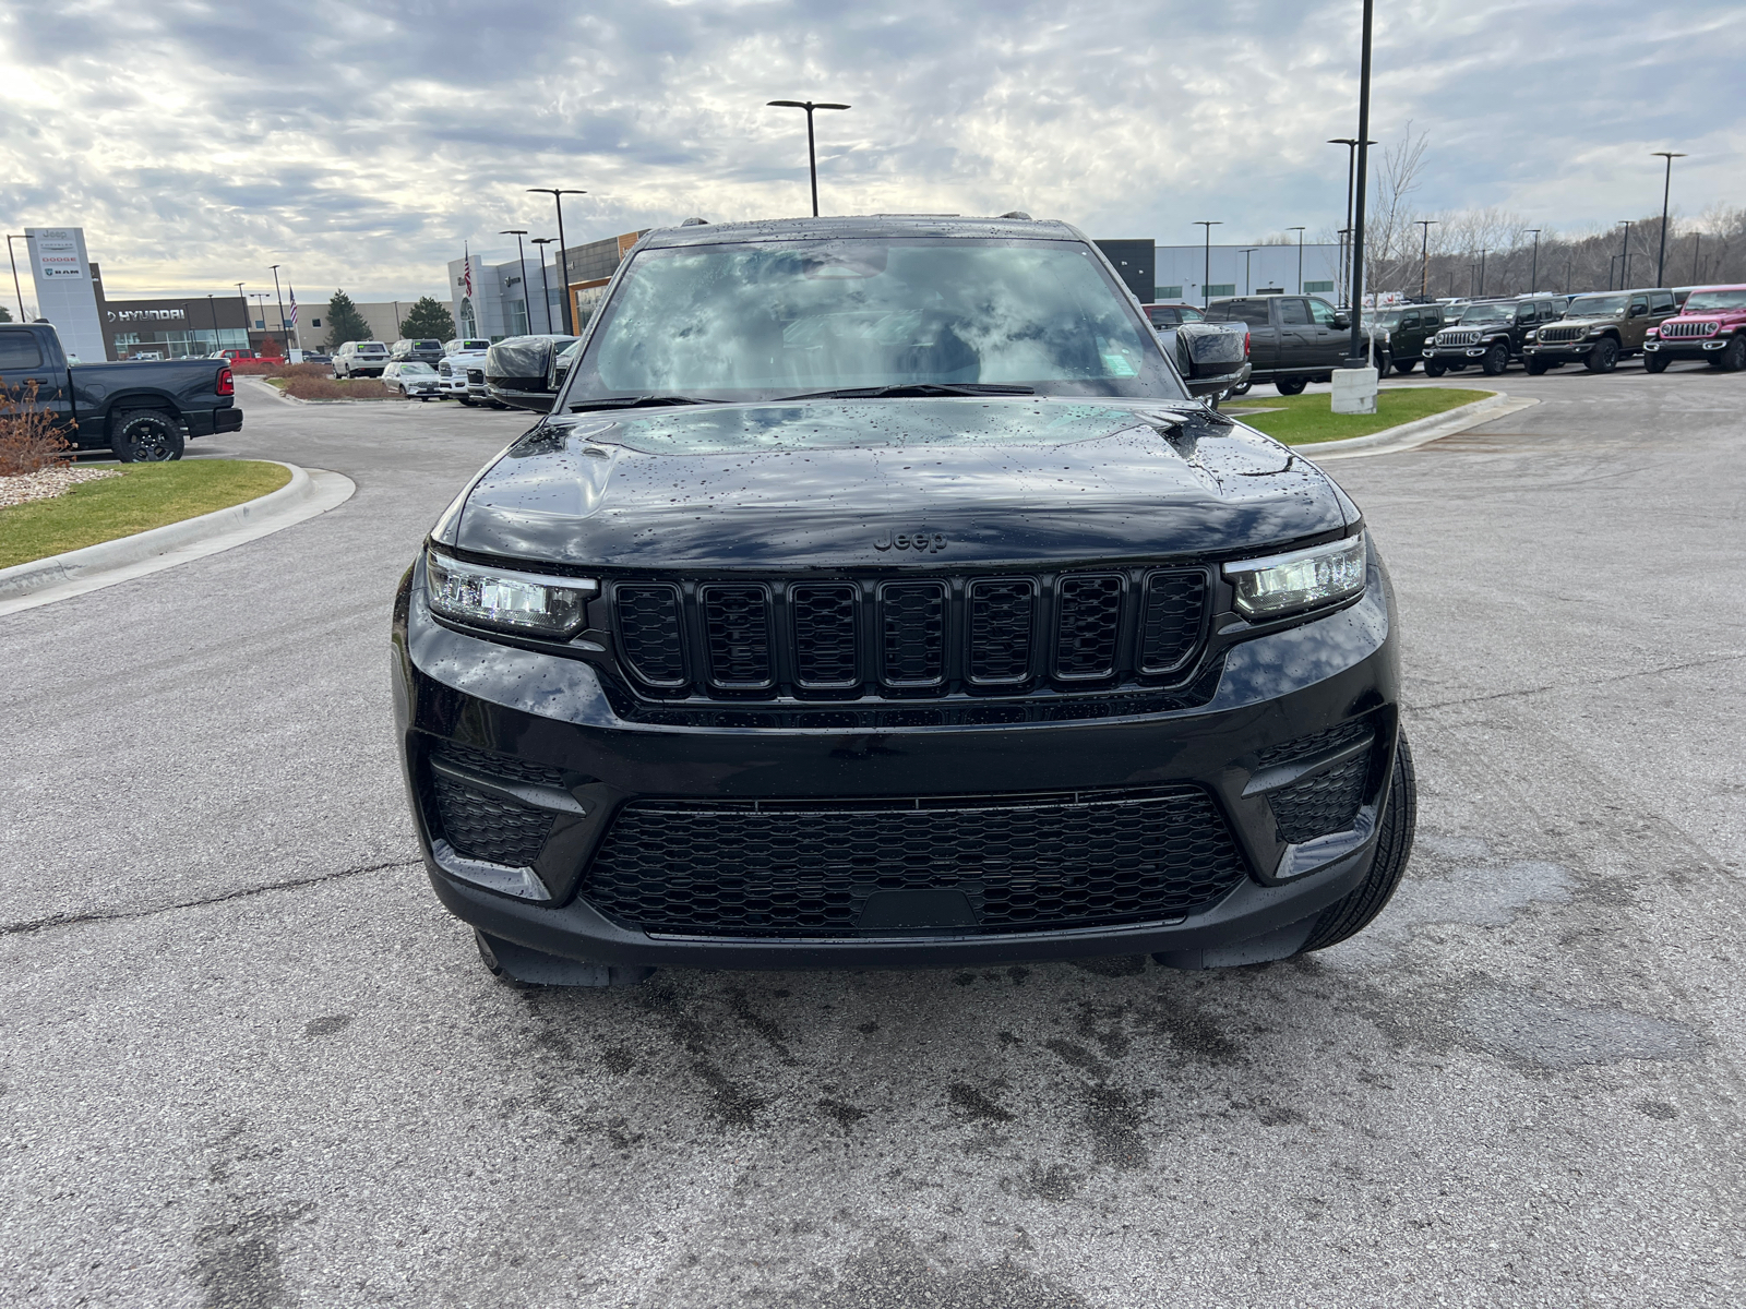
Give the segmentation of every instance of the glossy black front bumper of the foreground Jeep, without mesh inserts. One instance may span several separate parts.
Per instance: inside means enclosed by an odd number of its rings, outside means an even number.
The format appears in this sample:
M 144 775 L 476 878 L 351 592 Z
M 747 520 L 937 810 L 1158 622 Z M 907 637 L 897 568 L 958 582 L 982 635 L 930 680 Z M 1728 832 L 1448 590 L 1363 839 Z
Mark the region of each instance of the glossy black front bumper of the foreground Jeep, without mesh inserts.
M 423 562 L 395 606 L 395 716 L 414 822 L 438 899 L 489 935 L 630 967 L 925 967 L 1163 953 L 1198 958 L 1304 925 L 1353 890 L 1397 749 L 1399 661 L 1386 574 L 1372 557 L 1360 600 L 1240 642 L 1193 709 L 1048 724 L 866 731 L 697 728 L 615 712 L 602 674 L 436 623 Z M 1374 726 L 1355 824 L 1283 841 L 1257 754 L 1337 724 Z M 562 770 L 574 785 L 526 873 L 459 855 L 436 827 L 426 780 L 445 744 Z M 1084 792 L 1186 784 L 1212 798 L 1247 876 L 1177 918 L 988 934 L 927 929 L 831 937 L 651 934 L 588 901 L 588 864 L 630 801 L 883 801 Z M 546 792 L 552 796 L 552 792 Z M 545 803 L 553 803 L 552 799 Z M 519 873 L 531 885 L 513 885 Z M 505 887 L 503 892 L 492 887 Z M 1299 941 L 1301 944 L 1301 941 Z M 1278 951 L 1289 953 L 1289 949 Z M 1271 956 L 1271 955 L 1262 955 Z

